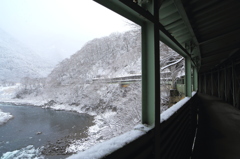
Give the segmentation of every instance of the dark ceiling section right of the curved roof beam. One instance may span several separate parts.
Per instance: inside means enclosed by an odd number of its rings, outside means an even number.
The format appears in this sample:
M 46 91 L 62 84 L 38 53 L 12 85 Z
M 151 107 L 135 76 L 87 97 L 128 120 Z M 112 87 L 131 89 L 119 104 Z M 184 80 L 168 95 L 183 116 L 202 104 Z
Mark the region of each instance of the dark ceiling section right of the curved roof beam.
M 239 54 L 240 1 L 182 0 L 181 3 L 198 41 L 201 72 L 214 69 Z

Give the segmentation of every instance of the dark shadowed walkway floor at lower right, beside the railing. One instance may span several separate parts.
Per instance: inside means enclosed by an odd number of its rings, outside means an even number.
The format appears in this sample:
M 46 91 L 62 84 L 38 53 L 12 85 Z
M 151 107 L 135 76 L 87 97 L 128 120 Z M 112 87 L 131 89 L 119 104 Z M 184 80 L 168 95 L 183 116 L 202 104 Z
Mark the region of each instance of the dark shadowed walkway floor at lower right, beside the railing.
M 199 126 L 192 159 L 240 159 L 240 111 L 198 94 Z

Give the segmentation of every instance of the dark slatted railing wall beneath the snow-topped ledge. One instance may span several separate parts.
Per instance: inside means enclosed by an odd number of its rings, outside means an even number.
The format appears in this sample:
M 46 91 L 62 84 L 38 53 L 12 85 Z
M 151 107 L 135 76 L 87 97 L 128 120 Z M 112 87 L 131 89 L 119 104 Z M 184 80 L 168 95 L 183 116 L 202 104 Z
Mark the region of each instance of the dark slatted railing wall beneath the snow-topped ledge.
M 197 128 L 197 94 L 160 124 L 161 142 L 158 147 L 161 159 L 189 159 Z M 150 159 L 154 158 L 155 129 L 119 148 L 104 158 Z

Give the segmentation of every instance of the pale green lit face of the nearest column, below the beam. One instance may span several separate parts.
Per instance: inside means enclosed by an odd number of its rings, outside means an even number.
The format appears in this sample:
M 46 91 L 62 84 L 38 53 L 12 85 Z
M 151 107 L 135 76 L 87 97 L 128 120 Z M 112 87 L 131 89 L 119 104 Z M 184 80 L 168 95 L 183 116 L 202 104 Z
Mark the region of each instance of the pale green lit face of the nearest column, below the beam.
M 142 123 L 153 125 L 155 112 L 154 25 L 142 25 Z

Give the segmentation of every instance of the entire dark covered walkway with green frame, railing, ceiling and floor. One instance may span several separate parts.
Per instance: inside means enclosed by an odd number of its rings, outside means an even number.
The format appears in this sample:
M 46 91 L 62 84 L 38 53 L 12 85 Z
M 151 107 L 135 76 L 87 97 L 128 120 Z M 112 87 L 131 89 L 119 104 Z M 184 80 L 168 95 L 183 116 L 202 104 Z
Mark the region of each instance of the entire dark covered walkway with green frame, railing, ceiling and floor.
M 85 153 L 98 150 L 98 158 L 109 159 L 239 159 L 240 1 L 94 1 L 141 27 L 144 125 L 131 141 L 126 133 L 107 142 L 111 151 L 100 145 Z M 168 109 L 166 120 L 160 112 L 160 40 L 185 59 L 186 101 Z M 114 147 L 117 139 L 121 146 Z

